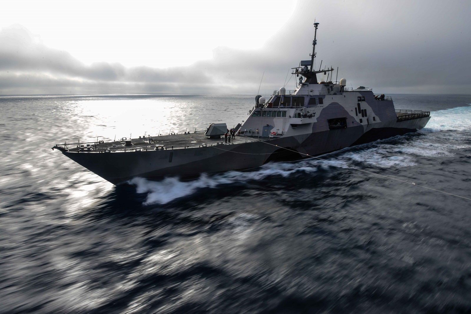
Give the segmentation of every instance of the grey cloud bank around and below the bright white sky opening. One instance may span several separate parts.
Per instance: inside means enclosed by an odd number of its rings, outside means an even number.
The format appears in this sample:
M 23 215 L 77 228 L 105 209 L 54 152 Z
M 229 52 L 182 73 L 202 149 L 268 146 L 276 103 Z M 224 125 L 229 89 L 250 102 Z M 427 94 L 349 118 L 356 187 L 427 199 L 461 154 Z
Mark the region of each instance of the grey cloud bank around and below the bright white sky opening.
M 313 17 L 317 66 L 377 92 L 471 93 L 469 1 L 300 1 L 284 27 L 257 50 L 219 47 L 210 60 L 157 69 L 97 62 L 34 40 L 21 25 L 0 31 L 1 94 L 261 93 L 283 86 L 309 59 Z M 267 17 L 264 23 L 278 23 Z M 282 22 L 283 23 L 283 22 Z M 291 75 L 291 74 L 290 74 Z M 288 79 L 290 78 L 288 76 Z M 286 86 L 294 88 L 294 80 Z

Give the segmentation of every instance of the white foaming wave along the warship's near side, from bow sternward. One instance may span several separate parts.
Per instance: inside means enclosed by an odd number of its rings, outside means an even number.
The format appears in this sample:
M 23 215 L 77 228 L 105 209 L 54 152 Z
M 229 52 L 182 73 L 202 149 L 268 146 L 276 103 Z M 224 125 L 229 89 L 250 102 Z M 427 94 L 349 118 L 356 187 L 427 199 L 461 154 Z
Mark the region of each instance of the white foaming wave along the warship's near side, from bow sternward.
M 330 173 L 335 168 L 391 168 L 416 165 L 417 156 L 438 156 L 451 154 L 446 147 L 427 148 L 425 145 L 380 145 L 365 147 L 359 152 L 346 148 L 336 153 L 322 156 L 328 161 L 311 158 L 295 162 L 271 162 L 253 171 L 227 171 L 222 174 L 202 174 L 192 181 L 181 181 L 177 177 L 166 177 L 162 181 L 134 178 L 129 181 L 136 185 L 137 193 L 147 193 L 144 205 L 166 204 L 175 199 L 195 193 L 198 189 L 218 188 L 222 185 L 260 181 L 268 177 L 295 177 L 300 174 L 313 175 L 319 170 Z M 337 156 L 336 156 L 337 155 Z

